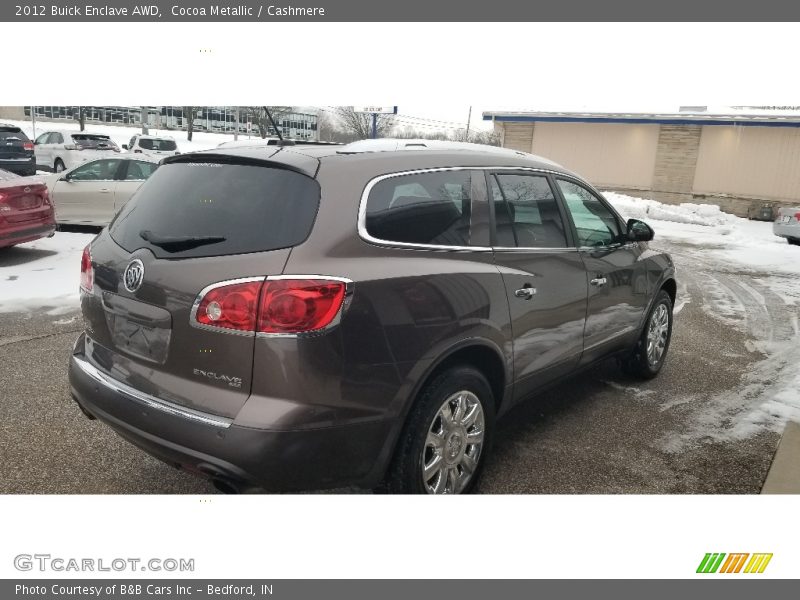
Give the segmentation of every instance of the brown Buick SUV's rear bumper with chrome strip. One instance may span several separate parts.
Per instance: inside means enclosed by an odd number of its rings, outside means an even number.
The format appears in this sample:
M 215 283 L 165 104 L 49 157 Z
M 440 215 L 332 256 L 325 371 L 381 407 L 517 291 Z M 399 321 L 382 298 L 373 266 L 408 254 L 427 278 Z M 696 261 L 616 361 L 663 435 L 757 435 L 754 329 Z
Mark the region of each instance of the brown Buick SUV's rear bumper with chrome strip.
M 374 487 L 380 479 L 375 462 L 389 434 L 385 420 L 302 431 L 238 426 L 115 382 L 93 367 L 83 340 L 81 335 L 70 359 L 73 398 L 129 442 L 175 467 L 268 491 Z

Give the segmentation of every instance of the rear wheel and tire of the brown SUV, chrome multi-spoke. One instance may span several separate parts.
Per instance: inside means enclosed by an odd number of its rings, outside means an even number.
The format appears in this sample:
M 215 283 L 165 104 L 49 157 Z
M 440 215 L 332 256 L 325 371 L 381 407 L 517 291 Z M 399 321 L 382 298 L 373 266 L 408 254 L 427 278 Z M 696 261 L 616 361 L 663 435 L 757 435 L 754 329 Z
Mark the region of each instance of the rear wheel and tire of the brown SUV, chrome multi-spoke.
M 494 420 L 495 399 L 483 373 L 469 366 L 440 373 L 411 409 L 382 491 L 468 493 L 491 450 Z M 441 442 L 430 443 L 434 437 Z M 433 467 L 427 476 L 425 464 Z

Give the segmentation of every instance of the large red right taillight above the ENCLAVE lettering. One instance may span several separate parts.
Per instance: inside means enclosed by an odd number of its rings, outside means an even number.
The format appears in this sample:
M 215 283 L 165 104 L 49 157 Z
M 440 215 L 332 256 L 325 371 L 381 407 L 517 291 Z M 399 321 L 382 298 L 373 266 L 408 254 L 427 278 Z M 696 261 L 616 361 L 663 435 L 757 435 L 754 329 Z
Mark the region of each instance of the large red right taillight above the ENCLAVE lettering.
M 194 321 L 248 333 L 298 334 L 325 329 L 339 314 L 347 283 L 334 279 L 231 282 L 200 297 Z

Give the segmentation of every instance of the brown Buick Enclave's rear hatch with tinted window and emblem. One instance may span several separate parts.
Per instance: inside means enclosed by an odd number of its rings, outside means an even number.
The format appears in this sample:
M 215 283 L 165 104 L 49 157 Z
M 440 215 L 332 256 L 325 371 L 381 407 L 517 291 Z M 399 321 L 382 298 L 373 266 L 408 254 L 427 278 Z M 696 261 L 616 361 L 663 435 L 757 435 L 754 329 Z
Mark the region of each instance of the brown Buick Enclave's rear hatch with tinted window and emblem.
M 87 354 L 142 392 L 232 418 L 250 393 L 255 334 L 198 325 L 193 307 L 209 286 L 280 274 L 311 231 L 319 185 L 280 163 L 167 160 L 92 242 Z

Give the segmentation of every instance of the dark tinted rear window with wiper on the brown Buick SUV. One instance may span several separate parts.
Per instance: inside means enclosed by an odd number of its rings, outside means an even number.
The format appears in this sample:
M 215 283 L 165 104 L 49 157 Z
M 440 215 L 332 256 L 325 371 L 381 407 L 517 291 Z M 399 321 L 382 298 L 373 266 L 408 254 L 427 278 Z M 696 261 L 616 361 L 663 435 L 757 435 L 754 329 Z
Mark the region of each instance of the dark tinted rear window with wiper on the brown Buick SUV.
M 161 166 L 109 226 L 128 252 L 159 258 L 288 248 L 311 232 L 319 184 L 294 171 L 222 163 Z

